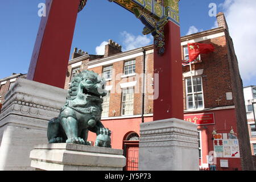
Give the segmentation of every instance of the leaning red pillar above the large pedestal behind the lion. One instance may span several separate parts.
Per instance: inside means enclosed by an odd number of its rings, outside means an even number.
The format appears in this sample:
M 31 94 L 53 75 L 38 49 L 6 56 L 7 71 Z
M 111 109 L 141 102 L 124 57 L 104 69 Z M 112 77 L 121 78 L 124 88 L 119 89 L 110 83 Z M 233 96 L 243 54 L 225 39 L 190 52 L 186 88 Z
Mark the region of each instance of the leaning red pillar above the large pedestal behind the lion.
M 64 88 L 80 0 L 46 0 L 27 79 Z

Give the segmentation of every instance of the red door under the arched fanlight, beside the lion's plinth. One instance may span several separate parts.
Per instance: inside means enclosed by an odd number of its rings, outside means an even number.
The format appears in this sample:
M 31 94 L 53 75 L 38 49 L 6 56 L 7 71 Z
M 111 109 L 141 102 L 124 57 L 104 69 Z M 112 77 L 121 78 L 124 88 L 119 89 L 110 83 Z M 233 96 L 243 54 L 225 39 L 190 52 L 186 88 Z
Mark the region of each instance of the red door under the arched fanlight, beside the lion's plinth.
M 138 171 L 139 144 L 127 144 L 126 171 Z

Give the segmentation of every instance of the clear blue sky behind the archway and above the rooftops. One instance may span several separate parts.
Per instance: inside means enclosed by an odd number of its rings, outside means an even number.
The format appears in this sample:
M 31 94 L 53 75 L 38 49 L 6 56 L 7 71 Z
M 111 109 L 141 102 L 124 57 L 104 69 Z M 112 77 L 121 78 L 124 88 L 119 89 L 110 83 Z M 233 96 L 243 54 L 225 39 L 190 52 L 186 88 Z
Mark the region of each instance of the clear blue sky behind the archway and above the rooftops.
M 230 7 L 235 1 L 241 0 L 181 0 L 181 36 L 186 35 L 192 26 L 192 32 L 209 30 L 214 26 L 216 17 L 208 15 L 210 3 L 217 4 L 217 13 L 226 11 L 231 14 Z M 249 4 L 255 2 L 243 0 L 245 1 Z M 40 23 L 38 4 L 42 2 L 45 1 L 0 1 L 0 78 L 12 73 L 27 73 Z M 88 0 L 84 10 L 77 17 L 71 52 L 73 48 L 78 47 L 90 54 L 96 54 L 96 47 L 109 39 L 121 44 L 123 50 L 145 46 L 135 42 L 131 44 L 127 40 L 128 37 L 133 38 L 132 40 L 147 40 L 144 42 L 151 44 L 151 36 L 142 36 L 143 27 L 133 14 L 115 3 L 107 0 Z M 245 76 L 245 86 L 256 84 L 253 76 L 255 75 Z

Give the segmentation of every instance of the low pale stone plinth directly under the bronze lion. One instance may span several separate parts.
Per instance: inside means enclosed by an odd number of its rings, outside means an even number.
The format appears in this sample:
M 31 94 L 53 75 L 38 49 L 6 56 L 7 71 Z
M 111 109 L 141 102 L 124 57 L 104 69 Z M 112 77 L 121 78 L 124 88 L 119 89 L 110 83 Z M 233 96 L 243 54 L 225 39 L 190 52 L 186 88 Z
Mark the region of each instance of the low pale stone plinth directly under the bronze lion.
M 123 150 L 71 143 L 41 144 L 30 153 L 31 167 L 46 171 L 122 171 Z

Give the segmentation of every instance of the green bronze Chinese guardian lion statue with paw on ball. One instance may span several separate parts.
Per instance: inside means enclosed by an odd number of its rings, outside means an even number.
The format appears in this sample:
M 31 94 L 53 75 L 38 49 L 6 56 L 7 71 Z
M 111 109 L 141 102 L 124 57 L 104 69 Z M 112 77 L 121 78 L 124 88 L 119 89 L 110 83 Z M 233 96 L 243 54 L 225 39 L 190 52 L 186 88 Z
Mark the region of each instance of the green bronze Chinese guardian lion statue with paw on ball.
M 67 101 L 57 118 L 48 122 L 49 143 L 90 145 L 88 132 L 96 133 L 95 146 L 111 148 L 111 131 L 101 123 L 105 80 L 93 71 L 77 71 L 68 90 Z

